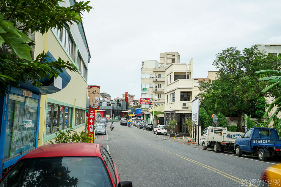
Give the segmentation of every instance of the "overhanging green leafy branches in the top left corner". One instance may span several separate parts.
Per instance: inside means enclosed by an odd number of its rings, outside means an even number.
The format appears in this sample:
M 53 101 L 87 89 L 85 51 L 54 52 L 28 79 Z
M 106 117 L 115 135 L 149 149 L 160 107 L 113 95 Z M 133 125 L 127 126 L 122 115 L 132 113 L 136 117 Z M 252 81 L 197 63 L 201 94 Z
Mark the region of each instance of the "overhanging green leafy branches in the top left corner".
M 70 7 L 60 7 L 62 0 L 0 0 L 0 96 L 8 93 L 8 85 L 19 87 L 29 81 L 41 86 L 40 78 L 57 77 L 62 69 L 77 72 L 69 61 L 48 62 L 46 51 L 34 57 L 35 32 L 44 34 L 50 28 L 69 28 L 81 24 L 81 14 L 92 7 L 87 2 L 76 2 Z

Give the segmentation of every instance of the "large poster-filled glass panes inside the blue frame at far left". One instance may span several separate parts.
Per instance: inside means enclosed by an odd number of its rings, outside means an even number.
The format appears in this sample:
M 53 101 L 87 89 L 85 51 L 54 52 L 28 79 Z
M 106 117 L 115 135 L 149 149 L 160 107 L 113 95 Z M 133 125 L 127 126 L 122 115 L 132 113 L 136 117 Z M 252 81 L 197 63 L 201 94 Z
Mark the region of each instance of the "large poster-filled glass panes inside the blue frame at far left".
M 4 160 L 35 148 L 38 100 L 9 94 Z

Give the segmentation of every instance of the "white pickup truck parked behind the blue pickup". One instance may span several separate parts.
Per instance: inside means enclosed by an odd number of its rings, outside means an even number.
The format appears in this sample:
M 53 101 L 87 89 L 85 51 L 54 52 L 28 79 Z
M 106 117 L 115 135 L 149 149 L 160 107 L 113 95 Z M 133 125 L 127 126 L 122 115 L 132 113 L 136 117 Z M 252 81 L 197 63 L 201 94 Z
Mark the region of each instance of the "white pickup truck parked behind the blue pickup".
M 228 132 L 226 127 L 207 127 L 201 133 L 200 143 L 203 150 L 214 148 L 217 153 L 219 151 L 233 150 L 235 140 L 241 138 L 244 132 Z

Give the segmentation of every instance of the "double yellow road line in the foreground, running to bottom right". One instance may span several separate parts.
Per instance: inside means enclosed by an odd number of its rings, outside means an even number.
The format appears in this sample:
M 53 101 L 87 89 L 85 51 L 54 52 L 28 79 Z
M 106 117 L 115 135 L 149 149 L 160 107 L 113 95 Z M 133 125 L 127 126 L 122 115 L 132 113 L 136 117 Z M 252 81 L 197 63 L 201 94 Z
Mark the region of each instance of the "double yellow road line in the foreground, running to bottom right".
M 148 144 L 148 145 L 150 145 L 150 144 Z M 240 184 L 241 184 L 242 181 L 243 181 L 243 180 L 241 180 L 241 179 L 239 179 L 239 178 L 237 178 L 237 177 L 234 177 L 234 176 L 232 176 L 232 175 L 229 175 L 229 174 L 227 174 L 227 173 L 225 173 L 225 172 L 222 172 L 222 171 L 220 171 L 220 170 L 218 170 L 218 169 L 215 169 L 215 168 L 213 168 L 213 167 L 210 167 L 210 166 L 208 166 L 208 165 L 202 164 L 202 163 L 200 163 L 200 162 L 198 162 L 198 161 L 189 159 L 189 158 L 187 158 L 187 157 L 185 157 L 185 156 L 178 155 L 178 154 L 176 154 L 176 153 L 173 153 L 173 152 L 170 152 L 170 151 L 167 151 L 167 150 L 158 148 L 158 147 L 153 146 L 153 145 L 150 145 L 150 146 L 152 146 L 152 147 L 154 147 L 154 148 L 156 148 L 156 149 L 159 149 L 159 150 L 161 150 L 161 151 L 164 151 L 164 152 L 166 152 L 166 153 L 170 153 L 170 154 L 176 155 L 176 156 L 178 156 L 178 157 L 180 157 L 180 158 L 182 158 L 182 159 L 185 159 L 185 160 L 187 160 L 187 161 L 193 162 L 194 164 L 200 165 L 200 166 L 202 166 L 202 167 L 204 167 L 204 168 L 206 168 L 206 169 L 209 169 L 209 170 L 211 170 L 211 171 L 213 171 L 213 172 L 216 172 L 216 173 L 218 173 L 218 174 L 220 174 L 220 175 L 222 175 L 222 176 L 224 176 L 224 177 L 226 177 L 226 178 L 229 178 L 229 179 L 231 179 L 231 180 L 234 180 L 235 182 L 238 182 L 238 183 L 240 183 Z M 228 176 L 227 176 L 227 175 L 228 175 Z M 237 179 L 237 180 L 236 180 L 236 179 Z M 239 180 L 240 180 L 240 181 L 239 181 Z M 249 184 L 249 186 L 258 187 L 258 186 L 255 186 L 255 185 L 251 184 L 251 183 L 248 183 L 248 182 L 246 182 L 246 183 Z

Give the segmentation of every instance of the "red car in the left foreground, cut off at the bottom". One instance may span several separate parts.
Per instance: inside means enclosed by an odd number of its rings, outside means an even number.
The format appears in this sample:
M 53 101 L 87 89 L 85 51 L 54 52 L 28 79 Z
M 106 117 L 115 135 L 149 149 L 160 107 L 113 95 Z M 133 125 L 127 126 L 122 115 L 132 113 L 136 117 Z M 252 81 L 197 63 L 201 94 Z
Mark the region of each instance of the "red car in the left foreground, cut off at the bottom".
M 0 186 L 132 187 L 120 182 L 108 151 L 98 143 L 40 146 L 19 159 L 1 178 Z

